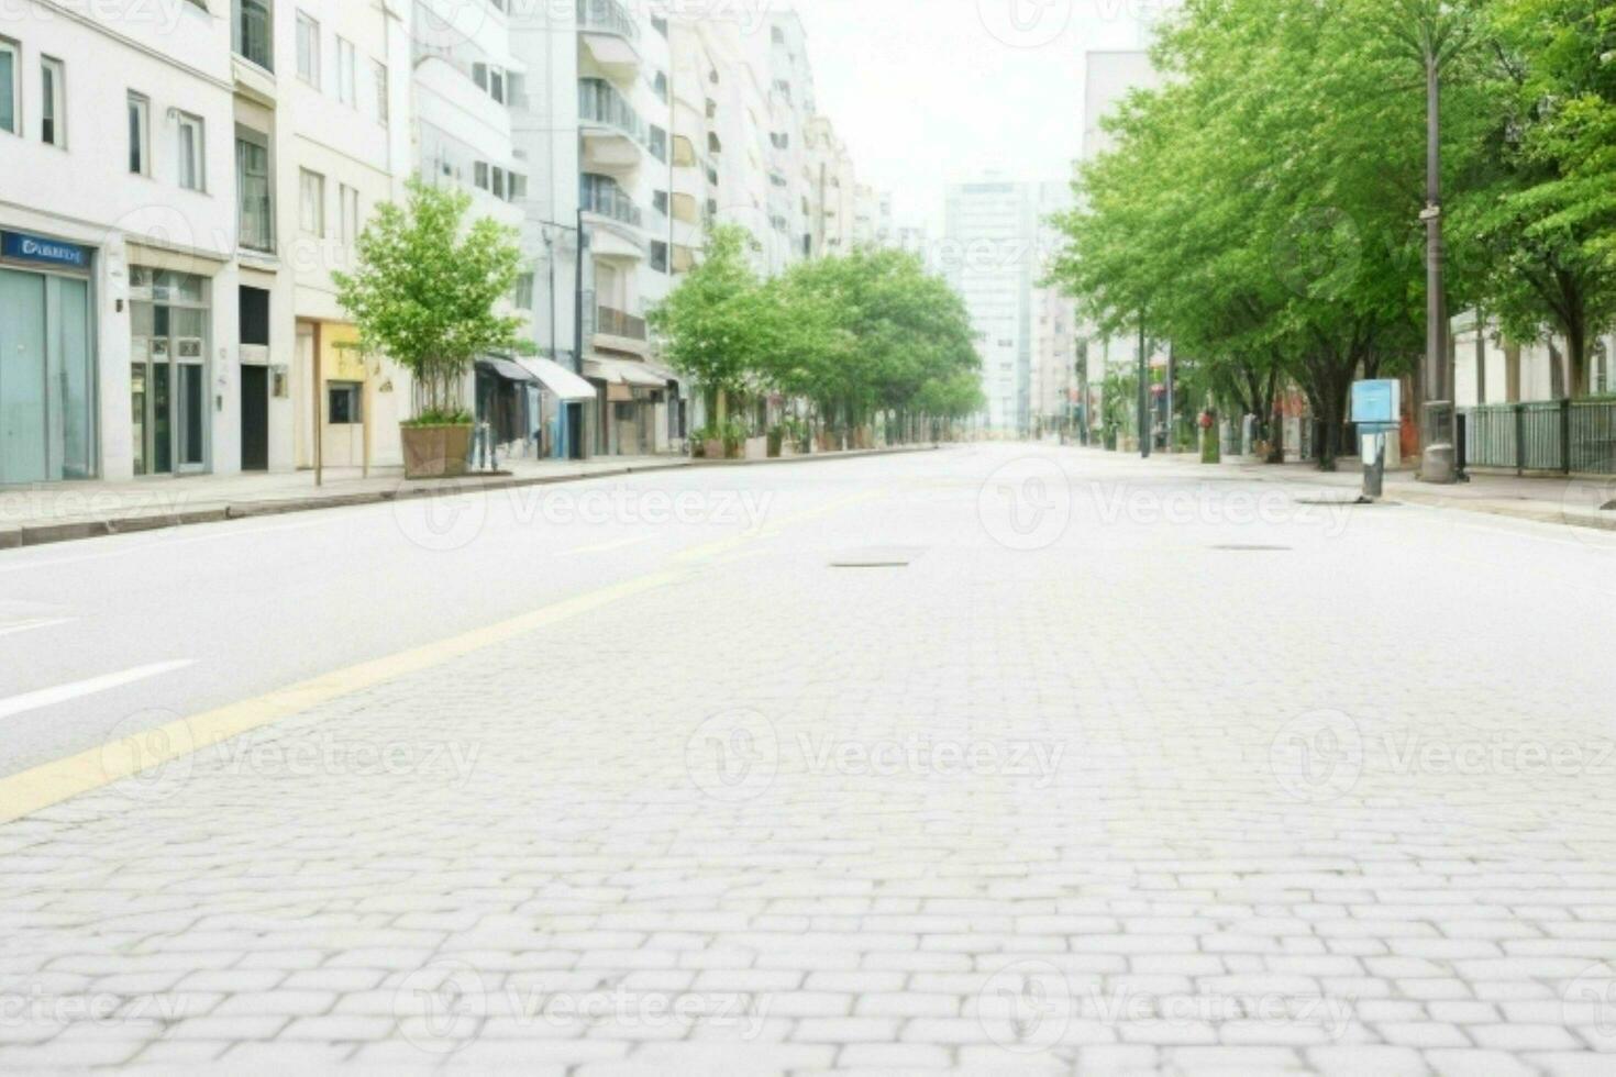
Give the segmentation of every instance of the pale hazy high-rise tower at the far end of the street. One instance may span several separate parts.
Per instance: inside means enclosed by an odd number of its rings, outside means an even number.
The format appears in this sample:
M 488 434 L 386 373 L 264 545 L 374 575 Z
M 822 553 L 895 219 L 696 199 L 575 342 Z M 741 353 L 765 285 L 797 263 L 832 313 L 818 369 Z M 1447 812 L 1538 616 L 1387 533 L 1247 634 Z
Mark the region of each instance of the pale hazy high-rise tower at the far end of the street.
M 983 357 L 984 421 L 1025 434 L 1033 418 L 1037 187 L 992 176 L 947 189 L 944 274 L 965 300 Z

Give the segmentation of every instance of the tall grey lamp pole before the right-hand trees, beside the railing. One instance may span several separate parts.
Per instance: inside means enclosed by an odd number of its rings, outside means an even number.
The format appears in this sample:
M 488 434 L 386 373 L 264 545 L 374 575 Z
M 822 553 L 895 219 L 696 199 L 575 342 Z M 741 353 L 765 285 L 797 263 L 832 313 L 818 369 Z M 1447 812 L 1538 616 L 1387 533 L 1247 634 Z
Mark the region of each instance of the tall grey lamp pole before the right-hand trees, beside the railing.
M 1441 249 L 1441 58 L 1435 27 L 1425 34 L 1425 371 L 1420 480 L 1453 483 L 1453 371 L 1448 363 L 1448 299 Z

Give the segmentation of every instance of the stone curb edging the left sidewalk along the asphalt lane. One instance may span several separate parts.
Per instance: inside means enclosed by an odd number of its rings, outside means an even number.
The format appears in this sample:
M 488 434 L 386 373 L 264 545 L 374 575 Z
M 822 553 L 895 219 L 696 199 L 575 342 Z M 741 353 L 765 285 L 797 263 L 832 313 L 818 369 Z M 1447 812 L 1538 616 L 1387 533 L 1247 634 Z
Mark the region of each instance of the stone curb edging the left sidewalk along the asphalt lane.
M 377 489 L 360 494 L 333 494 L 330 497 L 288 497 L 283 501 L 242 501 L 213 504 L 199 509 L 168 513 L 131 513 L 128 517 L 110 517 L 105 520 L 71 520 L 63 523 L 39 525 L 0 525 L 0 549 L 19 549 L 24 546 L 47 546 L 52 543 L 73 543 L 79 539 L 103 538 L 108 534 L 134 534 L 139 531 L 162 531 L 166 528 L 187 526 L 192 523 L 223 523 L 226 520 L 252 520 L 257 517 L 281 517 L 294 512 L 315 512 L 320 509 L 351 509 L 354 505 L 377 505 L 391 501 L 415 501 L 419 497 L 452 497 L 459 494 L 486 494 L 506 489 L 522 489 L 528 486 L 559 486 L 562 483 L 587 483 L 601 478 L 622 478 L 624 475 L 646 475 L 650 471 L 685 471 L 692 468 L 722 467 L 758 467 L 764 463 L 810 463 L 831 460 L 855 460 L 861 457 L 903 455 L 910 452 L 936 452 L 941 446 L 916 446 L 903 449 L 858 449 L 855 452 L 816 452 L 805 457 L 776 457 L 768 460 L 677 460 L 672 463 L 653 463 L 642 467 L 617 467 L 585 475 L 537 475 L 532 478 L 490 478 L 473 481 L 446 481 L 441 486 L 422 484 L 406 489 Z M 401 480 L 402 481 L 402 480 Z

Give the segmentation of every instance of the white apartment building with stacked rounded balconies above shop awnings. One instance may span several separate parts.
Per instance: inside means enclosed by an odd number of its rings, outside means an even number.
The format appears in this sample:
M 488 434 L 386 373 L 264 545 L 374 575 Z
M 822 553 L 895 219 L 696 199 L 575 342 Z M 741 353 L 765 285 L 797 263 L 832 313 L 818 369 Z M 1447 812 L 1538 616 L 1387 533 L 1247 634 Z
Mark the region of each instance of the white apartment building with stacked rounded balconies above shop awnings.
M 512 132 L 530 166 L 519 207 L 535 273 L 527 291 L 540 295 L 528 304 L 533 334 L 593 397 L 569 394 L 577 383 L 549 367 L 538 373 L 567 407 L 556 415 L 582 423 L 590 452 L 666 452 L 684 436 L 679 379 L 653 362 L 646 315 L 667 295 L 679 239 L 671 27 L 643 2 L 509 3 L 511 52 L 525 73 Z

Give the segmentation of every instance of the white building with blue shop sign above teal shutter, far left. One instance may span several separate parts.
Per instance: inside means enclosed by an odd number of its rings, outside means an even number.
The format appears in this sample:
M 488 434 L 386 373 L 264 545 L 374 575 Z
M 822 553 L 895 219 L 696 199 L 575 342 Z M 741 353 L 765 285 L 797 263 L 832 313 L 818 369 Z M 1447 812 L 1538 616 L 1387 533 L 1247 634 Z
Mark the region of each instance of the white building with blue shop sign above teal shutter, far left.
M 0 483 L 229 470 L 229 21 L 192 3 L 11 10 L 0 23 Z

